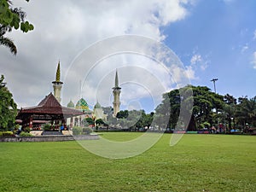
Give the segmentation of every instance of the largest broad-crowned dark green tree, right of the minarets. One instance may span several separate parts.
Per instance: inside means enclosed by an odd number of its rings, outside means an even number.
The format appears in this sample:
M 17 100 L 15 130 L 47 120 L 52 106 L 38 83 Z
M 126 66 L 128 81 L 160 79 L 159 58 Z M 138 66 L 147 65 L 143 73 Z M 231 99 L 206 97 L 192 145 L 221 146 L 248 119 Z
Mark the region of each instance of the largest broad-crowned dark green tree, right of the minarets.
M 188 94 L 191 89 L 193 94 Z M 164 94 L 163 98 L 164 100 L 155 111 L 169 118 L 167 127 L 179 129 L 183 128 L 179 126 L 188 126 L 189 131 L 195 131 L 201 124 L 213 124 L 212 109 L 224 108 L 223 96 L 210 91 L 206 86 L 187 85 Z M 181 108 L 181 102 L 183 102 L 183 108 Z M 183 117 L 180 117 L 180 110 L 183 110 Z M 189 119 L 190 116 L 191 119 Z M 177 125 L 179 118 L 181 125 Z

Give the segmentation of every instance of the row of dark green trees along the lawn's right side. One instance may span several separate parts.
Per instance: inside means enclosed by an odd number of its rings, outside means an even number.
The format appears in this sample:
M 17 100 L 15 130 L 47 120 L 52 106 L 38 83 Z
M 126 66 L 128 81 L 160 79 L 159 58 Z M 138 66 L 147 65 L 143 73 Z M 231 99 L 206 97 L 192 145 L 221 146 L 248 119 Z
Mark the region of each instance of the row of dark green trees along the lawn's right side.
M 193 96 L 186 97 L 186 94 L 183 93 L 189 88 L 192 89 Z M 191 102 L 192 100 L 193 102 Z M 193 103 L 188 125 L 177 125 L 181 102 L 184 106 L 190 106 L 190 103 Z M 189 108 L 187 110 L 189 112 Z M 168 116 L 166 127 L 172 129 L 187 127 L 188 131 L 195 131 L 210 126 L 218 127 L 220 124 L 227 128 L 226 131 L 238 128 L 246 129 L 246 124 L 256 125 L 256 96 L 252 99 L 239 98 L 237 103 L 236 98 L 229 94 L 221 96 L 206 86 L 188 85 L 165 93 L 163 101 L 155 109 L 155 112 L 159 117 Z

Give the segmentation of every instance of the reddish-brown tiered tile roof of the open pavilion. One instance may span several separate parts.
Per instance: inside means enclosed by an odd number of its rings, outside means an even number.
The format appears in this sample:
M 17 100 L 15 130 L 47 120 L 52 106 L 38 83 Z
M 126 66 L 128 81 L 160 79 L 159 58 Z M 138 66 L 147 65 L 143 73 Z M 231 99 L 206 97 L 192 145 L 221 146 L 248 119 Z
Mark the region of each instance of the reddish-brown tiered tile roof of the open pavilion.
M 44 99 L 39 102 L 38 106 L 30 108 L 21 108 L 16 119 L 24 119 L 29 115 L 33 116 L 33 119 L 61 119 L 69 118 L 73 116 L 82 115 L 83 112 L 73 109 L 62 107 L 56 100 L 52 93 L 45 96 Z

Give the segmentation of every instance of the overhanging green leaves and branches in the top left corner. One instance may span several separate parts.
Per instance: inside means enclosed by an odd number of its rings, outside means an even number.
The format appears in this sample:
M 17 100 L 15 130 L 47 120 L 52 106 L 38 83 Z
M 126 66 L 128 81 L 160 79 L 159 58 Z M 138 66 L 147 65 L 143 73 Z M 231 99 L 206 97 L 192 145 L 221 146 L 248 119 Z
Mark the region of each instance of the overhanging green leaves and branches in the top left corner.
M 29 2 L 29 0 L 26 0 Z M 17 48 L 10 38 L 4 37 L 6 32 L 20 29 L 22 32 L 28 32 L 34 29 L 34 26 L 25 20 L 26 13 L 22 9 L 13 8 L 12 1 L 0 0 L 0 44 L 10 49 L 11 53 L 16 55 Z

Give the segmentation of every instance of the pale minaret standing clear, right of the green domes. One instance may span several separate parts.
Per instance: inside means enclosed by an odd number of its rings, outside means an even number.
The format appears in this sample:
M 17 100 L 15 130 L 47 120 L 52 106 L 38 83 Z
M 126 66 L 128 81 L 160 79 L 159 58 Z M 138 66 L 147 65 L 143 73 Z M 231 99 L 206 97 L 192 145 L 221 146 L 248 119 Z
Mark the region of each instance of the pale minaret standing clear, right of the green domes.
M 113 116 L 115 117 L 117 113 L 119 113 L 119 108 L 120 108 L 120 100 L 119 100 L 119 96 L 120 96 L 120 92 L 121 92 L 121 88 L 119 87 L 119 77 L 118 77 L 118 73 L 116 70 L 115 73 L 115 79 L 114 79 L 114 87 L 113 89 Z

